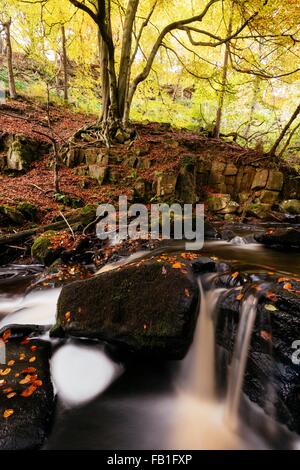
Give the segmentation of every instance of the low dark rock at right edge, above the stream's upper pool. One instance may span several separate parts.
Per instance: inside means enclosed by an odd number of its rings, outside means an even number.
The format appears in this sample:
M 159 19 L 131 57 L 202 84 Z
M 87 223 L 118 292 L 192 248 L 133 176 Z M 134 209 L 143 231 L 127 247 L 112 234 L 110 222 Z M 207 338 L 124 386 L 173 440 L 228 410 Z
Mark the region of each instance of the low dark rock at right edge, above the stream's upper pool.
M 300 230 L 295 228 L 269 229 L 255 235 L 258 243 L 271 247 L 300 248 Z

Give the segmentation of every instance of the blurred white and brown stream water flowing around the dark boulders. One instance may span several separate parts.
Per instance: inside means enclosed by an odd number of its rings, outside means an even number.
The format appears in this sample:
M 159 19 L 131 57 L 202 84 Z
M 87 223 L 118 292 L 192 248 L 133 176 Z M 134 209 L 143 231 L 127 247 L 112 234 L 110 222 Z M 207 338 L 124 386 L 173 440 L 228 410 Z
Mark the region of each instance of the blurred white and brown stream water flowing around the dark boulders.
M 297 253 L 273 252 L 258 245 L 244 245 L 240 240 L 238 246 L 211 242 L 204 252 L 243 269 L 288 272 L 290 265 L 293 273 L 300 274 Z M 28 292 L 40 267 L 31 272 L 24 269 L 0 270 L 0 327 L 11 323 L 54 323 L 60 289 Z M 124 368 L 108 357 L 99 343 L 52 341 L 51 371 L 58 403 L 46 449 L 299 447 L 297 436 L 267 417 L 242 393 L 256 316 L 257 297 L 251 292 L 243 302 L 227 395 L 221 397 L 218 393 L 214 325 L 223 290 L 212 287 L 214 276 L 199 280 L 199 319 L 192 347 L 183 361 L 135 361 Z M 45 339 L 49 339 L 47 334 Z M 249 425 L 249 420 L 243 421 L 242 402 L 252 417 L 251 423 L 260 423 L 259 429 L 255 424 Z

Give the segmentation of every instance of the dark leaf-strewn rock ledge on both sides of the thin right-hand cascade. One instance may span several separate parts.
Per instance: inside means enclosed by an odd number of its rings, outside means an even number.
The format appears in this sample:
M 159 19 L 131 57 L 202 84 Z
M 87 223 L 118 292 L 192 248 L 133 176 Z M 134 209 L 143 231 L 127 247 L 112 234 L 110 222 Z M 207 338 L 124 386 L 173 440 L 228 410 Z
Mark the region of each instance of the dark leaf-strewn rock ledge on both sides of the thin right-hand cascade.
M 278 278 L 260 291 L 243 390 L 249 398 L 290 429 L 300 432 L 300 369 L 293 362 L 300 331 L 300 283 Z M 216 334 L 230 363 L 242 300 L 236 291 L 221 296 Z

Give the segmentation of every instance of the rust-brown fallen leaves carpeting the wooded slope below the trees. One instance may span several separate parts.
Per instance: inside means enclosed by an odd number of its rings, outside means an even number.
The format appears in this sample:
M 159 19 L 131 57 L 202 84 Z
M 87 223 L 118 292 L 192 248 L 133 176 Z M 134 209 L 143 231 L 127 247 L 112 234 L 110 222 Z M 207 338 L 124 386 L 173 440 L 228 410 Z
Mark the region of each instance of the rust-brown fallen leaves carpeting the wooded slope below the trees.
M 51 118 L 52 131 L 48 127 Z M 96 116 L 76 113 L 70 108 L 45 105 L 30 100 L 9 101 L 0 107 L 0 132 L 17 134 L 36 141 L 49 142 L 51 132 L 59 144 L 65 142 L 76 130 L 95 122 Z M 114 202 L 119 195 L 132 193 L 132 182 L 137 177 L 153 181 L 158 173 L 172 171 L 184 155 L 206 156 L 214 161 L 224 158 L 230 162 L 264 166 L 267 158 L 253 149 L 246 149 L 234 142 L 212 139 L 185 129 L 174 129 L 167 124 L 136 123 L 137 138 L 133 145 L 117 144 L 112 152 L 120 159 L 134 149 L 147 146 L 147 158 L 152 161 L 150 169 L 121 168 L 123 177 L 114 184 L 99 186 L 97 181 L 76 175 L 74 169 L 62 166 L 59 170 L 61 192 L 72 198 L 80 198 L 83 204 Z M 0 174 L 0 205 L 17 205 L 21 202 L 38 206 L 40 224 L 52 222 L 59 211 L 64 210 L 61 202 L 54 199 L 53 169 L 51 154 L 32 163 L 26 173 L 6 172 Z M 122 167 L 122 165 L 119 165 Z M 120 168 L 119 168 L 120 169 Z

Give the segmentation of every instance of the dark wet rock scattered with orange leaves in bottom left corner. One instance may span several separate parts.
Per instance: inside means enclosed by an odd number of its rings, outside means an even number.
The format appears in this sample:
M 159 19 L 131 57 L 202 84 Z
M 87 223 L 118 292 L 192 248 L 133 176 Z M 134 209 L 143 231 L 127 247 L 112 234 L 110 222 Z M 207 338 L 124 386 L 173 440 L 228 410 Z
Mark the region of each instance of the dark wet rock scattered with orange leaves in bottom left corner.
M 34 339 L 43 328 L 12 325 L 0 330 L 5 358 L 0 373 L 0 449 L 34 450 L 50 430 L 54 393 L 51 346 Z

